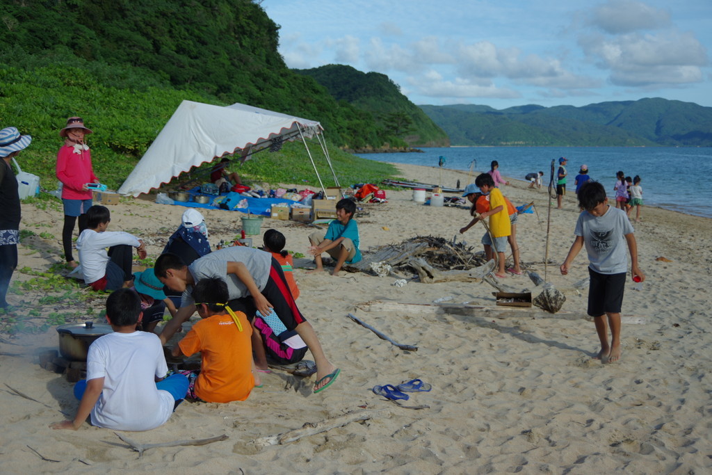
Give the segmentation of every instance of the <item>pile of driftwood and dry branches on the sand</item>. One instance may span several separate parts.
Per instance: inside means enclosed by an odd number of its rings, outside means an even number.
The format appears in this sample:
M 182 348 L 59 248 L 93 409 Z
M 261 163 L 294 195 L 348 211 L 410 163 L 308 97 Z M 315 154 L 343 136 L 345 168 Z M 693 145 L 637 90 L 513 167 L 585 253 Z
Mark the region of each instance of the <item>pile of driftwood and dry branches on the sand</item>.
M 483 278 L 492 271 L 492 264 L 473 253 L 472 246 L 436 236 L 416 236 L 400 244 L 380 246 L 360 262 L 343 268 L 382 277 L 410 278 L 415 273 L 421 282 L 447 282 Z

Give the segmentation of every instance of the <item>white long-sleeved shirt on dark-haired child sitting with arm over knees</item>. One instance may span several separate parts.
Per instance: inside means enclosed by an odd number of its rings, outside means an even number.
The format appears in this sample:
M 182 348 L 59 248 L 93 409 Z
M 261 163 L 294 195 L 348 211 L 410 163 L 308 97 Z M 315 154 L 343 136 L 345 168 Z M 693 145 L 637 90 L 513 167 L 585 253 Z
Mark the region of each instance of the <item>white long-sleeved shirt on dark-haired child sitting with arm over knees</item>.
M 123 231 L 104 231 L 102 233 L 93 229 L 82 231 L 77 239 L 77 250 L 79 251 L 79 261 L 82 263 L 84 282 L 87 285 L 105 276 L 106 263 L 109 261 L 106 248 L 119 244 L 138 247 L 141 243 L 136 236 Z

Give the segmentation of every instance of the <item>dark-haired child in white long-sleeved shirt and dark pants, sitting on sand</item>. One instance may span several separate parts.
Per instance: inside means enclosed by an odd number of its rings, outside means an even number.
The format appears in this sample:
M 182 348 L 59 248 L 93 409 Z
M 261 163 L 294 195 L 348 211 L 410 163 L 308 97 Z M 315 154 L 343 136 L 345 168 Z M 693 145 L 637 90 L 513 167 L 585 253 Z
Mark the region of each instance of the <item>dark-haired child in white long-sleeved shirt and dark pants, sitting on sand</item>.
M 87 210 L 87 229 L 77 239 L 84 282 L 95 291 L 115 291 L 132 281 L 132 247 L 140 259 L 146 258 L 146 246 L 132 234 L 107 231 L 111 214 L 107 207 L 95 204 Z M 109 248 L 109 251 L 106 251 Z

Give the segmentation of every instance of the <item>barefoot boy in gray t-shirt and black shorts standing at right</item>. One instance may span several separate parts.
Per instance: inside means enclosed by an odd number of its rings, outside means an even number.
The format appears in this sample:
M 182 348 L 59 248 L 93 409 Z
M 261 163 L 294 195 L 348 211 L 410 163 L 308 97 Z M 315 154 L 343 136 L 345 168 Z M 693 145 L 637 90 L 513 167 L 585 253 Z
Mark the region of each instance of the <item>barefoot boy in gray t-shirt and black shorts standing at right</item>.
M 638 267 L 638 249 L 633 226 L 622 209 L 610 207 L 606 191 L 599 182 L 587 182 L 578 192 L 582 213 L 576 221 L 576 239 L 561 273 L 569 273 L 571 263 L 585 245 L 590 261 L 588 273 L 588 314 L 594 318 L 601 350 L 596 356 L 602 362 L 614 362 L 621 356 L 621 306 L 627 272 L 624 242 L 628 244 L 633 278 L 645 280 Z M 607 317 L 604 319 L 604 314 Z M 611 343 L 608 343 L 608 325 Z

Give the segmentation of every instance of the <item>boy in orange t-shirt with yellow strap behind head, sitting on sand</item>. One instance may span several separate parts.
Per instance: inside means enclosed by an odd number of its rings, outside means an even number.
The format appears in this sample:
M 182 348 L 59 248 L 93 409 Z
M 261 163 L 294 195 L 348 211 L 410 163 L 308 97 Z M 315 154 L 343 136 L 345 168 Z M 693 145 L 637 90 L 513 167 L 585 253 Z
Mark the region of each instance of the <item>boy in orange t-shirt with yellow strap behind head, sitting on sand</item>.
M 193 290 L 200 320 L 172 350 L 174 357 L 200 352 L 201 370 L 188 372 L 188 397 L 205 402 L 244 401 L 256 384 L 253 377 L 252 327 L 242 312 L 228 306 L 227 284 L 204 278 Z

